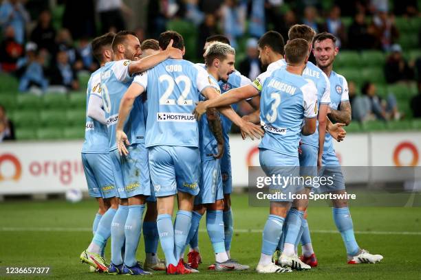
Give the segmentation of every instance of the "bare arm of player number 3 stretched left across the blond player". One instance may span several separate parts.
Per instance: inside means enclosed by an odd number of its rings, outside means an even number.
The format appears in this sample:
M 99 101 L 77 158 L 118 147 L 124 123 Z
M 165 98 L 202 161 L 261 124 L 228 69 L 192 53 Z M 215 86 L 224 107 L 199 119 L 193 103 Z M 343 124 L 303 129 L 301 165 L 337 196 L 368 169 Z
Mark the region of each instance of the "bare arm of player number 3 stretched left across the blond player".
M 200 116 L 202 116 L 206 112 L 207 108 L 229 106 L 231 104 L 240 102 L 241 100 L 246 100 L 247 98 L 254 97 L 258 94 L 259 91 L 257 91 L 257 89 L 250 84 L 246 86 L 241 86 L 237 89 L 231 89 L 230 91 L 227 91 L 226 93 L 220 95 L 215 99 L 211 100 L 209 98 L 209 100 L 199 102 L 195 110 L 193 111 L 193 114 L 195 114 L 195 117 L 199 119 Z

